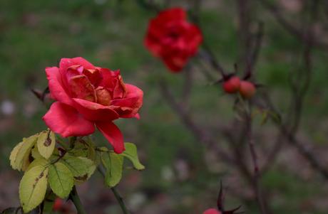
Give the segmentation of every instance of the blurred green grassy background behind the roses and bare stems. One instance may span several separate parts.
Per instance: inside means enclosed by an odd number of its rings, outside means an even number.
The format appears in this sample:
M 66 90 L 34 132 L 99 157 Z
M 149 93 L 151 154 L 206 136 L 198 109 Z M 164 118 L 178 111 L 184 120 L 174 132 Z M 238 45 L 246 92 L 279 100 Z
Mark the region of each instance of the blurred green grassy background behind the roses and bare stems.
M 302 1 L 274 2 L 291 20 L 302 10 Z M 172 5 L 188 8 L 188 1 Z M 257 81 L 266 85 L 284 114 L 290 96 L 289 73 L 301 66 L 302 46 L 260 4 L 255 3 L 252 9 L 265 23 Z M 236 170 L 222 164 L 217 154 L 196 141 L 160 95 L 158 80 L 164 78 L 179 97 L 184 74 L 168 73 L 160 60 L 145 50 L 143 38 L 153 16 L 155 12 L 133 0 L 0 1 L 0 210 L 19 205 L 21 174 L 9 166 L 11 149 L 22 137 L 46 129 L 41 119 L 46 108 L 31 88 L 46 87 L 44 68 L 58 65 L 60 58 L 81 56 L 103 68 L 121 69 L 124 81 L 145 93 L 141 119 L 116 122 L 125 141 L 138 145 L 146 166 L 142 172 L 126 170 L 118 186 L 133 213 L 202 213 L 215 207 L 220 179 L 226 187 L 227 207 L 242 204 L 247 213 L 258 213 L 251 191 Z M 235 1 L 204 0 L 200 22 L 206 43 L 220 62 L 233 70 L 240 53 Z M 327 51 L 316 49 L 313 61 L 313 79 L 299 135 L 312 143 L 328 168 Z M 216 124 L 226 124 L 234 117 L 233 100 L 209 84 L 198 60 L 193 63 L 190 108 L 199 124 L 215 131 Z M 261 127 L 258 123 L 257 129 L 261 134 L 256 143 L 263 148 L 270 146 L 277 131 L 271 124 Z M 100 134 L 95 137 L 97 144 L 107 144 Z M 217 144 L 225 143 L 217 138 Z M 270 193 L 275 213 L 328 212 L 327 183 L 290 146 L 285 146 L 262 185 Z M 78 191 L 88 213 L 121 212 L 99 175 Z

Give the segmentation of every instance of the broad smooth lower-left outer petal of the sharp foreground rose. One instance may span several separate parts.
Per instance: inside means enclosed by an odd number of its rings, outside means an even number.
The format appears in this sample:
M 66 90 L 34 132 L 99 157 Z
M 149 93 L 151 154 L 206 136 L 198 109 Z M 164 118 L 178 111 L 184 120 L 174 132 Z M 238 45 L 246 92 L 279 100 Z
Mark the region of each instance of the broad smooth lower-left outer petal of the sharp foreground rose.
M 84 119 L 73 107 L 54 102 L 43 116 L 46 125 L 62 137 L 85 136 L 95 132 L 92 122 Z

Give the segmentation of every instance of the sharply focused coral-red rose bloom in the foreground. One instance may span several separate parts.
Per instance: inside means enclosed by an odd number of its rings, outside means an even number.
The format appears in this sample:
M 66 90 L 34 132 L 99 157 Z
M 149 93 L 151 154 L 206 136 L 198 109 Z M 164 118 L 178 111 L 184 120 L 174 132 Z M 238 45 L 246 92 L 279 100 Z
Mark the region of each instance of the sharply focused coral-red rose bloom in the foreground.
M 125 84 L 120 71 L 93 66 L 83 58 L 63 58 L 59 68 L 46 68 L 54 102 L 43 116 L 46 125 L 62 137 L 85 136 L 96 127 L 113 145 L 124 149 L 123 135 L 113 124 L 120 117 L 138 118 L 143 91 Z

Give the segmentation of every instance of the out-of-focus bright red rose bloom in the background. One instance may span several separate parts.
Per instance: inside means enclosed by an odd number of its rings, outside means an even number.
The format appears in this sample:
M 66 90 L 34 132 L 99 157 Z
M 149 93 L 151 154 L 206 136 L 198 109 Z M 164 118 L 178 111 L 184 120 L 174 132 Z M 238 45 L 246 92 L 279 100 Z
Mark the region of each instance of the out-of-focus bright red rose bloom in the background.
M 151 19 L 145 36 L 145 46 L 173 72 L 183 69 L 202 41 L 200 29 L 187 21 L 180 8 L 161 11 Z

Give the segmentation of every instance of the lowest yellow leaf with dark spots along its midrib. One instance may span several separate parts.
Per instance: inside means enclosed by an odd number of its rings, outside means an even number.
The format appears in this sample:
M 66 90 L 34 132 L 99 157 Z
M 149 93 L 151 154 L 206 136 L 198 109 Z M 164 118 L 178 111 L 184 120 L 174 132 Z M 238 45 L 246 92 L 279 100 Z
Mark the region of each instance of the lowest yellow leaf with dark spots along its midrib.
M 21 183 L 19 184 L 19 198 L 24 213 L 36 208 L 44 196 L 47 188 L 48 168 L 43 166 L 35 166 L 29 171 L 26 171 Z

